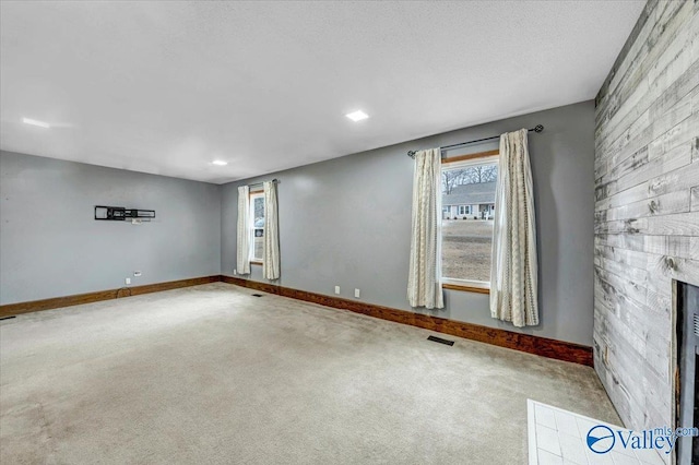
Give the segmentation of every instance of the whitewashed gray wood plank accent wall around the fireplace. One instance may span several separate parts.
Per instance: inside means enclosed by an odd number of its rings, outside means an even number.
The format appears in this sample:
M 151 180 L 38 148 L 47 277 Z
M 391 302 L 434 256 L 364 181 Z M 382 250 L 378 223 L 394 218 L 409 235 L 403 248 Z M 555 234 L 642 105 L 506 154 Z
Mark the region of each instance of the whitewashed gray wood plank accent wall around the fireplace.
M 595 126 L 595 369 L 625 425 L 673 421 L 673 279 L 699 284 L 699 1 L 650 0 Z

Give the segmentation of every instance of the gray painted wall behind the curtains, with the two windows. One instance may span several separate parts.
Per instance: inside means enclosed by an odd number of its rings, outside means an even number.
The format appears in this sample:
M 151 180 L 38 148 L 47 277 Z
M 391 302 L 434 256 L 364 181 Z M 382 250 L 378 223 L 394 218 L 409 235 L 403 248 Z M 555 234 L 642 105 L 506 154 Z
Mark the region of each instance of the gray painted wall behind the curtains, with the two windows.
M 406 300 L 413 160 L 428 148 L 544 124 L 530 138 L 540 250 L 541 324 L 517 330 L 490 318 L 488 296 L 447 291 L 443 318 L 592 345 L 594 105 L 569 105 L 308 165 L 245 182 L 222 195 L 223 274 L 236 263 L 237 187 L 280 179 L 282 278 L 296 289 L 411 310 Z M 493 145 L 472 147 L 472 151 Z M 453 154 L 453 153 L 452 153 Z M 251 278 L 261 278 L 252 265 Z

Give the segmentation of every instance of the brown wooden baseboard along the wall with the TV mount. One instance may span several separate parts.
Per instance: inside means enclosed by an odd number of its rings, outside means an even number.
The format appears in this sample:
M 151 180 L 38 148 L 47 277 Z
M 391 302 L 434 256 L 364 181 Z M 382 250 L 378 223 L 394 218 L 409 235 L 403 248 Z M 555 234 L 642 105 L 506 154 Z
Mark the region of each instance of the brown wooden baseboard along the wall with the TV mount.
M 165 283 L 145 284 L 143 286 L 129 286 L 120 289 L 98 290 L 96 293 L 55 297 L 51 299 L 33 300 L 29 302 L 8 303 L 0 306 L 0 318 L 29 313 L 33 311 L 58 309 L 61 307 L 80 306 L 82 303 L 98 302 L 100 300 L 111 300 L 120 297 L 138 296 L 141 294 L 159 293 L 161 290 L 198 286 L 200 284 L 216 283 L 220 281 L 220 275 L 202 276 L 188 279 L 168 281 Z

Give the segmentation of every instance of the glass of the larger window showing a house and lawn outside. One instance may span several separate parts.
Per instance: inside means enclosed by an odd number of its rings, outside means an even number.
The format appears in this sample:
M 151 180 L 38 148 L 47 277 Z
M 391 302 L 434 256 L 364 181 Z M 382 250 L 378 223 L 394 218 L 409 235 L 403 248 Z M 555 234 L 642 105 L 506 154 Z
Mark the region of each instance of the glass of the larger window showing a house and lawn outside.
M 441 273 L 445 284 L 489 288 L 498 157 L 459 157 L 442 162 L 443 205 L 459 205 L 442 219 Z M 466 158 L 466 159 L 463 159 Z

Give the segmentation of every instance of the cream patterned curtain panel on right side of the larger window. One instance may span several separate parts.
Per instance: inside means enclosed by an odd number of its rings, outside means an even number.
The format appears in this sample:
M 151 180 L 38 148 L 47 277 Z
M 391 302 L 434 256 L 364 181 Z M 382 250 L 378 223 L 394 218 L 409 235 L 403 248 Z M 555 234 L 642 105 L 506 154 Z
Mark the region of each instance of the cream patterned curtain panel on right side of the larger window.
M 534 188 L 526 132 L 500 135 L 490 269 L 490 313 L 516 326 L 538 324 Z

